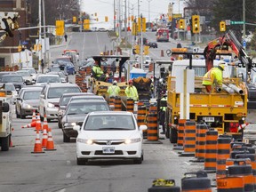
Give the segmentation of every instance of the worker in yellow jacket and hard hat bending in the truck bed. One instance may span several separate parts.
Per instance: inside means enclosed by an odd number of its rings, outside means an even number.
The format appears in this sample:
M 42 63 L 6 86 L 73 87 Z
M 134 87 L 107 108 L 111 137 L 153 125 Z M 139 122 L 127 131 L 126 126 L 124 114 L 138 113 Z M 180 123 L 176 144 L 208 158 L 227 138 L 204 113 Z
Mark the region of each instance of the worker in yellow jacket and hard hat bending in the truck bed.
M 225 67 L 225 62 L 220 61 L 217 68 L 211 68 L 203 78 L 203 85 L 207 92 L 212 92 L 212 85 L 216 86 L 216 90 L 221 90 L 222 88 L 222 76 Z

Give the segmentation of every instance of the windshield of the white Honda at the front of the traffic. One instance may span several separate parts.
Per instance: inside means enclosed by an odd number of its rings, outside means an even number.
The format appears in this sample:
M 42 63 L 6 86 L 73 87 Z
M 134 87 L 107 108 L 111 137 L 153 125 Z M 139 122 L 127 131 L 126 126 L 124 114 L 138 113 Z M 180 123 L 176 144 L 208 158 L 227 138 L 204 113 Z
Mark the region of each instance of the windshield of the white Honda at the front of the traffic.
M 132 116 L 127 115 L 101 115 L 89 116 L 84 125 L 84 130 L 134 130 L 135 124 Z

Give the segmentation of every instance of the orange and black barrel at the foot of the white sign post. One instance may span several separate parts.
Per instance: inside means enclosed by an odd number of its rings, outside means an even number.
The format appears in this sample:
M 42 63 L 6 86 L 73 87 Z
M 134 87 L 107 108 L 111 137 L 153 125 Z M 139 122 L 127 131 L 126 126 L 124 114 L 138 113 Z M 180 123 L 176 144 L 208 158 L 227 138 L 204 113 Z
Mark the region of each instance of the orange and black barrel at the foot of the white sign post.
M 184 152 L 195 153 L 196 151 L 196 122 L 187 120 L 184 127 Z

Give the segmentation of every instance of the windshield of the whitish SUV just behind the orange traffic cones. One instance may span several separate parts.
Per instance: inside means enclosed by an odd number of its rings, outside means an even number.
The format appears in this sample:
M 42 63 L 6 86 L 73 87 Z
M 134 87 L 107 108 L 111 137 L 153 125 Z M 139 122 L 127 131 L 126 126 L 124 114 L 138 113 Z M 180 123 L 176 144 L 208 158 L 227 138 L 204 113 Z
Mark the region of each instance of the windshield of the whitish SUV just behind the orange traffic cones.
M 80 92 L 79 87 L 50 87 L 48 99 L 60 98 L 63 93 Z

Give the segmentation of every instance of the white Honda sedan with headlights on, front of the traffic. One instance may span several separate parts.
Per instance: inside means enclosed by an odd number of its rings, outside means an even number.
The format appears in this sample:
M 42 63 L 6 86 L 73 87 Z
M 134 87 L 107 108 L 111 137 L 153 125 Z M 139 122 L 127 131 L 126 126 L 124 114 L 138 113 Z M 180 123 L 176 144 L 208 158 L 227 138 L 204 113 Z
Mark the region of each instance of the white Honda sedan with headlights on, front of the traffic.
M 85 164 L 92 159 L 132 159 L 134 164 L 143 161 L 142 130 L 136 118 L 126 111 L 91 112 L 82 127 L 75 125 L 76 163 Z

